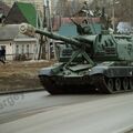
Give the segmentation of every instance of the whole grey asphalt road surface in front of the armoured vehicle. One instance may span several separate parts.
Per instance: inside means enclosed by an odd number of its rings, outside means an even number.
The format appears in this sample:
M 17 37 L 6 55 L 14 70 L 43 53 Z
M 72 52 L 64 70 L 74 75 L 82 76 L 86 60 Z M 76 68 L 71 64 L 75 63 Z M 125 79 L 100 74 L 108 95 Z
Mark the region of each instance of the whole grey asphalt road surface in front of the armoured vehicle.
M 8 96 L 0 98 L 1 103 Z M 1 110 L 0 122 L 0 133 L 124 133 L 133 127 L 133 93 L 20 94 L 12 106 Z

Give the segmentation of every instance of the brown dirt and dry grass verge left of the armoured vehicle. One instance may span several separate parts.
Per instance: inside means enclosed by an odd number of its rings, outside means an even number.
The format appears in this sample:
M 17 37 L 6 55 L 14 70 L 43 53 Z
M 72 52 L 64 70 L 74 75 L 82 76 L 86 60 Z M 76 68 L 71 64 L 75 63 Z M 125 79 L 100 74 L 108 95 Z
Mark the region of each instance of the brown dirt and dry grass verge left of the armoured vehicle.
M 43 89 L 38 78 L 38 71 L 52 64 L 53 61 L 0 63 L 0 93 Z

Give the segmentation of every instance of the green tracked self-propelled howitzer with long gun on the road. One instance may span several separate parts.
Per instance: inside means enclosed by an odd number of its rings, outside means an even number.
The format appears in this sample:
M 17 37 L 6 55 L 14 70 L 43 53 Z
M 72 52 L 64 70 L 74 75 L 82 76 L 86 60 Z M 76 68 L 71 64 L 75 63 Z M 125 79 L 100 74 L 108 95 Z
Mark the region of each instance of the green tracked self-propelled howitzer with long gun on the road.
M 76 24 L 79 35 L 66 38 L 21 24 L 24 34 L 43 34 L 64 43 L 58 63 L 43 68 L 39 78 L 51 94 L 133 91 L 133 38 L 109 30 L 92 32 L 90 24 Z M 64 59 L 64 60 L 63 60 Z

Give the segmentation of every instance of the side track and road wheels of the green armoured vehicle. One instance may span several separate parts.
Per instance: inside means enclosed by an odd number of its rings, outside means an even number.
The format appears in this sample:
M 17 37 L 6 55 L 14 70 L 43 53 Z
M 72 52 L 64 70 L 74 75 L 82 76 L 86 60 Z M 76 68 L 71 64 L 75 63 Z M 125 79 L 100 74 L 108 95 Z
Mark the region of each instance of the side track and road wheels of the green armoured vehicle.
M 122 93 L 133 91 L 133 78 L 106 78 L 104 75 L 96 75 L 96 88 L 102 93 Z

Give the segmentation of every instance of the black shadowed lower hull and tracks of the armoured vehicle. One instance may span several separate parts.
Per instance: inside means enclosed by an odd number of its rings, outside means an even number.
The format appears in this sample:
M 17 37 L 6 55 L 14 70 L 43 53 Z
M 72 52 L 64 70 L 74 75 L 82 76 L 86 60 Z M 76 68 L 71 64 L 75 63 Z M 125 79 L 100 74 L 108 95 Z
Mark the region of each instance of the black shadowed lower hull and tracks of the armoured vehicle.
M 65 79 L 68 80 L 68 79 Z M 40 76 L 40 81 L 50 94 L 88 94 L 88 93 L 122 93 L 133 91 L 133 78 L 106 78 L 93 75 L 91 78 L 78 79 L 74 82 L 59 80 L 53 76 Z

